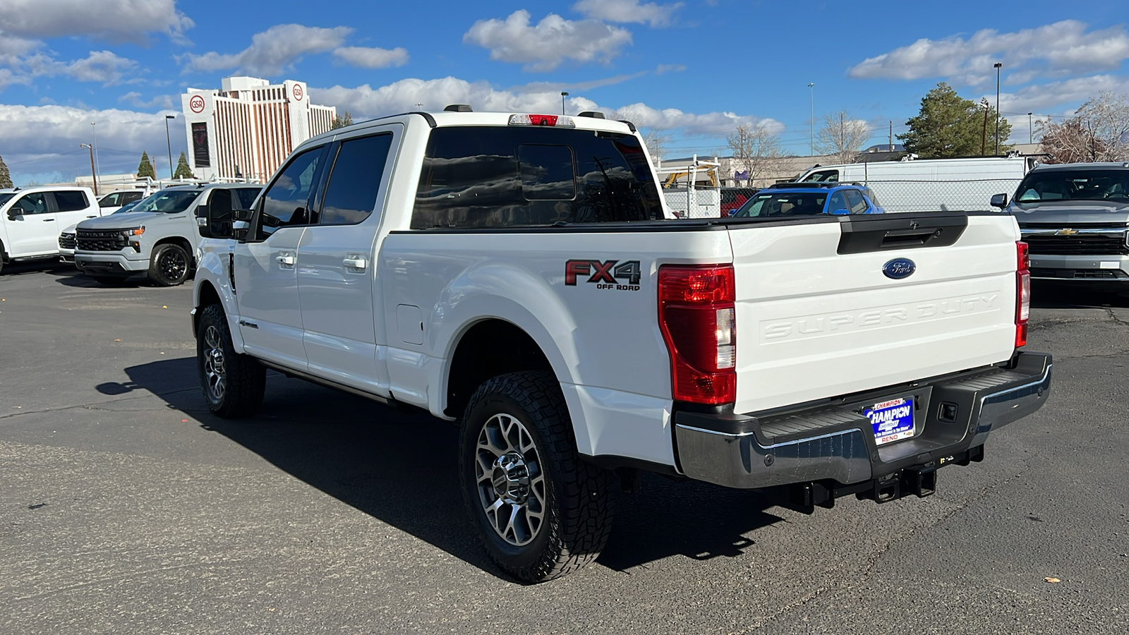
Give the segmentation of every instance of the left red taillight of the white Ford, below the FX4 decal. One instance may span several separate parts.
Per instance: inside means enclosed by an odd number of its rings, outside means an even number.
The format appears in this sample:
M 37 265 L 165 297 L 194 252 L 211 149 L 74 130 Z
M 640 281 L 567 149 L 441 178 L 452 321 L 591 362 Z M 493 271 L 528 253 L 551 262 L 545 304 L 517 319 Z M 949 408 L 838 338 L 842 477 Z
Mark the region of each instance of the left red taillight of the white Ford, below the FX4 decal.
M 730 264 L 658 269 L 658 325 L 671 354 L 676 401 L 736 401 L 736 295 Z

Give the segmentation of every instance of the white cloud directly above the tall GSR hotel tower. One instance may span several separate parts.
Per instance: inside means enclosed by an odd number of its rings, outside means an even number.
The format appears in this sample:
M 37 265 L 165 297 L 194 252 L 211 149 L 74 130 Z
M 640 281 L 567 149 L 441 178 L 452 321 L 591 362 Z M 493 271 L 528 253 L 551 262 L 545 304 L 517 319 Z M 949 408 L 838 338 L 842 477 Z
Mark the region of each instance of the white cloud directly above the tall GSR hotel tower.
M 239 69 L 254 75 L 279 75 L 307 53 L 324 53 L 341 46 L 352 28 L 321 28 L 280 24 L 251 36 L 251 46 L 238 53 L 189 54 L 185 71 Z

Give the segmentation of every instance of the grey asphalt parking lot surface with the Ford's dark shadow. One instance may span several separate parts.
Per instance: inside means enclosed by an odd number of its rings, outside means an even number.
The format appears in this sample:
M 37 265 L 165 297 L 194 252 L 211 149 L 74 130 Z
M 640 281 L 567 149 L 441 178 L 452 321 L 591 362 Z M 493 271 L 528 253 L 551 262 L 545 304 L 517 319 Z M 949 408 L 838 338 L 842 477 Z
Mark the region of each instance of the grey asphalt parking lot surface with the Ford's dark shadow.
M 210 416 L 191 284 L 9 266 L 0 298 L 2 633 L 1129 632 L 1115 298 L 1035 288 L 1052 397 L 933 497 L 806 516 L 648 477 L 535 586 L 478 546 L 452 425 L 277 374 Z

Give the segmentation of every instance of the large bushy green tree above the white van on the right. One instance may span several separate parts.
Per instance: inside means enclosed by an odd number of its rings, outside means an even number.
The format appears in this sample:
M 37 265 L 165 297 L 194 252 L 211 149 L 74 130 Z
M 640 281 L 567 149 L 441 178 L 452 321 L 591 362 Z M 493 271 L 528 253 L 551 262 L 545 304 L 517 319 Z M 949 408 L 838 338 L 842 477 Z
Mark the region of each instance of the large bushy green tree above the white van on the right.
M 996 151 L 996 108 L 987 99 L 978 105 L 956 94 L 942 81 L 921 98 L 921 111 L 905 122 L 910 127 L 898 139 L 905 150 L 921 158 L 990 155 Z M 999 120 L 999 151 L 1010 149 L 1005 141 L 1012 124 Z

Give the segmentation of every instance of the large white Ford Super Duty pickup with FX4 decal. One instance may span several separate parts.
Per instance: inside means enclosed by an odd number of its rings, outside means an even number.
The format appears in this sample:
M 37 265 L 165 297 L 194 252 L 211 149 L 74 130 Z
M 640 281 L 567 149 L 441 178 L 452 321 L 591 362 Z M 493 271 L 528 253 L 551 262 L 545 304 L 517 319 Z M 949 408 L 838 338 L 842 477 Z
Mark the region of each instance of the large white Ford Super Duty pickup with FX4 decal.
M 208 219 L 200 381 L 224 417 L 274 368 L 460 421 L 518 580 L 599 554 L 616 476 L 926 496 L 1050 394 L 1010 216 L 671 219 L 628 122 L 448 110 L 309 139 Z

